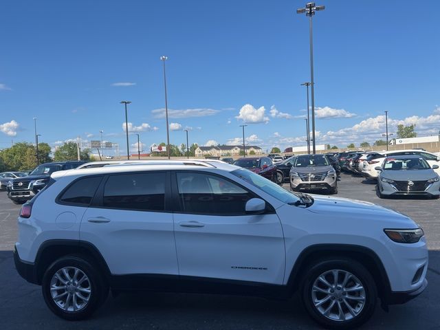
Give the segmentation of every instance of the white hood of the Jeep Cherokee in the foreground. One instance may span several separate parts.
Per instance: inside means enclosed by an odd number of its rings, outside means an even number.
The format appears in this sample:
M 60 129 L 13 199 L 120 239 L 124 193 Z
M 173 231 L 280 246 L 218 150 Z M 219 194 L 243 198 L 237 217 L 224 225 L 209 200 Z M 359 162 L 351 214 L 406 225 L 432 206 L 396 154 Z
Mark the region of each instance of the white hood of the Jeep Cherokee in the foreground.
M 349 214 L 353 219 L 362 215 L 362 217 L 366 218 L 373 216 L 383 217 L 384 219 L 405 218 L 410 220 L 405 214 L 369 203 L 368 201 L 322 195 L 311 195 L 311 197 L 314 198 L 314 203 L 307 210 L 318 214 Z

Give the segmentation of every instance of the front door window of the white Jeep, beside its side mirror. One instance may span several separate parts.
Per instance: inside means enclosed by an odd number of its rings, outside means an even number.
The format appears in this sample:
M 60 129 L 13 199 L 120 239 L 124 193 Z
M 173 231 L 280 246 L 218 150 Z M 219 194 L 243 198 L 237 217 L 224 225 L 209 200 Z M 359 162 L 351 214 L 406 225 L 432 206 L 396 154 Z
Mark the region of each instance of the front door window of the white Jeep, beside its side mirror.
M 205 173 L 177 173 L 181 210 L 212 215 L 245 214 L 245 204 L 253 196 L 228 179 Z

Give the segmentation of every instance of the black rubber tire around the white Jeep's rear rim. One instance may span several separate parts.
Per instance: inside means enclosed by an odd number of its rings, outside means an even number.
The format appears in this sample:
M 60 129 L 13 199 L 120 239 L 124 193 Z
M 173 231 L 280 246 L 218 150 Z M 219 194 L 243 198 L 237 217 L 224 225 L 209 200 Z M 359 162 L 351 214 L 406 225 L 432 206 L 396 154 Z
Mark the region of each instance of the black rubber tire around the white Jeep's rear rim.
M 62 270 L 64 267 L 72 267 L 72 271 L 69 273 L 71 276 L 72 272 L 74 272 L 74 269 L 78 269 L 88 278 L 85 283 L 90 287 L 89 299 L 87 303 L 85 303 L 85 300 L 80 300 L 80 298 L 78 300 L 78 298 L 76 298 L 76 301 L 84 303 L 84 306 L 77 311 L 66 311 L 62 307 L 58 306 L 52 298 L 51 281 L 56 272 Z M 59 282 L 59 284 L 56 283 L 56 285 L 60 284 L 63 285 L 61 282 Z M 83 320 L 88 318 L 94 313 L 94 311 L 96 311 L 96 309 L 98 309 L 98 307 L 100 307 L 100 305 L 102 305 L 102 303 L 104 303 L 109 294 L 109 286 L 105 281 L 104 276 L 99 273 L 99 268 L 94 267 L 93 261 L 89 261 L 80 255 L 63 256 L 54 261 L 54 263 L 52 263 L 52 265 L 50 265 L 45 271 L 42 281 L 42 290 L 47 307 L 49 307 L 54 314 L 64 318 L 65 320 Z M 67 292 L 67 290 L 60 290 L 59 294 L 63 292 Z M 84 295 L 87 296 L 87 294 Z

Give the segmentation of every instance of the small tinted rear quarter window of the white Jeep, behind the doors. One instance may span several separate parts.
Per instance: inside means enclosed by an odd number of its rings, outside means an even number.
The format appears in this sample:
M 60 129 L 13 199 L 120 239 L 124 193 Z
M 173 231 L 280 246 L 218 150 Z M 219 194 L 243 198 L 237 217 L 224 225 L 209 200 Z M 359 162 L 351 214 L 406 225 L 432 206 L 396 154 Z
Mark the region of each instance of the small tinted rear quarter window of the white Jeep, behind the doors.
M 102 177 L 85 177 L 78 179 L 65 190 L 59 201 L 61 203 L 89 206 Z

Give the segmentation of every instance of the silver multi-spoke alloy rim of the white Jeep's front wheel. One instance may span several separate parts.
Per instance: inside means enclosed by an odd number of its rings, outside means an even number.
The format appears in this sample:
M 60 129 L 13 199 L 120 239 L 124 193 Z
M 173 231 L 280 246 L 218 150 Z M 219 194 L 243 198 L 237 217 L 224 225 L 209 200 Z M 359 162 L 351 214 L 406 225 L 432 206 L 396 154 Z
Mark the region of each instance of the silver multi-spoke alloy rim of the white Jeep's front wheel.
M 339 322 L 357 317 L 366 303 L 364 285 L 346 270 L 320 274 L 311 288 L 311 298 L 322 316 Z

